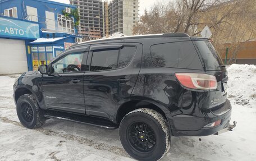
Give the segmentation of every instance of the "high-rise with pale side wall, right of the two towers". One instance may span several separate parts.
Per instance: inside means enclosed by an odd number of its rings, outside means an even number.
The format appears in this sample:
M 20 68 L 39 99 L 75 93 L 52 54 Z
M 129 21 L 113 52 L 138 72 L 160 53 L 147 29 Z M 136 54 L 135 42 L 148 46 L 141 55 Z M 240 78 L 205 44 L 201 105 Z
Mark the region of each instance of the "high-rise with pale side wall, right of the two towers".
M 132 35 L 139 17 L 139 0 L 113 0 L 108 5 L 109 34 Z

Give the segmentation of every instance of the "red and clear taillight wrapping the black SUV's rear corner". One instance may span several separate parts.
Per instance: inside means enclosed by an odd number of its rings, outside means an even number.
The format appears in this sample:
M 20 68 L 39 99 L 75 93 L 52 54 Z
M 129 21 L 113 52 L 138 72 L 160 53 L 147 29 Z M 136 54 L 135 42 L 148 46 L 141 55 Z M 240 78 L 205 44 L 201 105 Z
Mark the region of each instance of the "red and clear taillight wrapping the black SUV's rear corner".
M 175 76 L 186 88 L 201 90 L 217 89 L 217 80 L 213 75 L 204 73 L 175 73 Z

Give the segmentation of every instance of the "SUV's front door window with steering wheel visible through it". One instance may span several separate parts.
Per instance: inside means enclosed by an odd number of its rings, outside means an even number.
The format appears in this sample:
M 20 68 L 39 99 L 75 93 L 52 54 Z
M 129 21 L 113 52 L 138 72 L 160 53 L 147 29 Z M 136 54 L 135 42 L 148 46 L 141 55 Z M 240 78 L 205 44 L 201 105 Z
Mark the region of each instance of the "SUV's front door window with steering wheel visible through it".
M 80 72 L 84 53 L 72 53 L 52 65 L 52 73 Z

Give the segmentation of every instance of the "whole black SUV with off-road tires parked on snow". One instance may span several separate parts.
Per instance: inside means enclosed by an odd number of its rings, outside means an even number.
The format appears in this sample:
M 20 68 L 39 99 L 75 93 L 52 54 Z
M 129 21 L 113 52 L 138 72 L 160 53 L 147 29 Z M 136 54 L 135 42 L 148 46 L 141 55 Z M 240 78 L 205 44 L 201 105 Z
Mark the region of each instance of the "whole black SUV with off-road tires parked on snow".
M 182 33 L 127 36 L 73 45 L 14 85 L 28 128 L 46 119 L 119 128 L 127 153 L 158 160 L 170 136 L 230 130 L 227 71 L 211 41 Z

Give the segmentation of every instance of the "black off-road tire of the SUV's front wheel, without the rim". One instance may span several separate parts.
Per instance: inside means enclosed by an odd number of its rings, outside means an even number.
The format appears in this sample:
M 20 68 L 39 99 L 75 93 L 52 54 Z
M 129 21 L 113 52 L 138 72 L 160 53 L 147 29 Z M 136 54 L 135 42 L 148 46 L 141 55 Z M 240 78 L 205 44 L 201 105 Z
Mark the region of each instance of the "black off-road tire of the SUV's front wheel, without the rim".
M 24 117 L 24 114 L 22 113 L 24 108 L 24 104 L 30 105 L 33 113 L 33 116 L 31 117 L 31 121 L 26 121 L 26 118 Z M 35 96 L 32 94 L 24 94 L 20 96 L 20 98 L 17 100 L 17 116 L 20 119 L 20 122 L 23 126 L 27 128 L 38 128 L 42 125 L 44 125 L 46 119 L 44 117 L 44 111 L 43 109 L 39 108 L 38 103 L 36 102 Z

